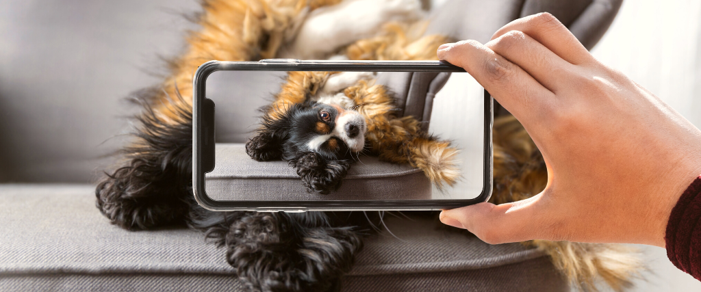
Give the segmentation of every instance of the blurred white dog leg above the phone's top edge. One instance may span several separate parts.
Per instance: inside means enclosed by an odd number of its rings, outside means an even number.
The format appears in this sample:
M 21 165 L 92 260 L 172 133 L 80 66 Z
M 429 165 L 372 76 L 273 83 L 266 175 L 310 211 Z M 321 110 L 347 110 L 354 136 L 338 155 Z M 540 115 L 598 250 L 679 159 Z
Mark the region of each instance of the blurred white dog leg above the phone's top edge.
M 423 16 L 418 0 L 347 0 L 308 15 L 281 57 L 320 59 L 373 36 L 386 22 L 411 22 Z

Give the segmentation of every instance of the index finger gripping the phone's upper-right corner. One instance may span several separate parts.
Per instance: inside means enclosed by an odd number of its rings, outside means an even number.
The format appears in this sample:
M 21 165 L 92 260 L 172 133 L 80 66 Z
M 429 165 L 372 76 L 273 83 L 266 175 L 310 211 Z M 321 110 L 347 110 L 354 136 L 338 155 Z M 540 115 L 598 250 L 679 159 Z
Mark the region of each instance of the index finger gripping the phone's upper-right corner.
M 441 46 L 440 60 L 463 67 L 522 123 L 547 116 L 554 94 L 517 64 L 506 60 L 477 41 L 460 41 Z M 533 114 L 533 113 L 538 113 Z

